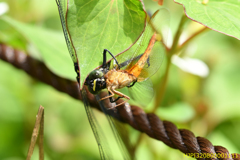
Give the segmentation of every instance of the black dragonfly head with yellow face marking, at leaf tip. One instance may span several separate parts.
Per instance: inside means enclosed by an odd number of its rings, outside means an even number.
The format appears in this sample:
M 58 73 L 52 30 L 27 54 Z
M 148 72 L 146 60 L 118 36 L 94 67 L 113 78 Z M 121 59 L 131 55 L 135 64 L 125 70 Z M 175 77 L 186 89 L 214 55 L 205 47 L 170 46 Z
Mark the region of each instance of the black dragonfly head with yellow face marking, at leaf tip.
M 89 92 L 97 94 L 102 89 L 106 88 L 103 69 L 96 69 L 92 71 L 86 79 Z

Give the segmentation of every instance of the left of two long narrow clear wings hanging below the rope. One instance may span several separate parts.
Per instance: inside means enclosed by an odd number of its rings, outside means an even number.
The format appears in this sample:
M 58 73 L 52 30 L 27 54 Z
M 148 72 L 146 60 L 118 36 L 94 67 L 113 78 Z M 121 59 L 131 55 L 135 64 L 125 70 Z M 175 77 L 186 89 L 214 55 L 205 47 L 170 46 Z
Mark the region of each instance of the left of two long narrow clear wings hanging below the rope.
M 86 110 L 86 113 L 88 116 L 88 121 L 91 125 L 93 134 L 94 134 L 95 139 L 98 144 L 98 149 L 100 152 L 101 160 L 111 160 L 111 159 L 113 159 L 113 156 L 112 156 L 111 150 L 109 148 L 109 145 L 107 143 L 107 139 L 104 136 L 104 133 L 103 133 L 91 107 L 89 106 L 88 99 L 86 96 L 87 93 L 86 93 L 86 90 L 84 89 L 84 87 L 81 91 L 81 94 L 82 94 L 84 107 L 85 107 L 85 110 Z

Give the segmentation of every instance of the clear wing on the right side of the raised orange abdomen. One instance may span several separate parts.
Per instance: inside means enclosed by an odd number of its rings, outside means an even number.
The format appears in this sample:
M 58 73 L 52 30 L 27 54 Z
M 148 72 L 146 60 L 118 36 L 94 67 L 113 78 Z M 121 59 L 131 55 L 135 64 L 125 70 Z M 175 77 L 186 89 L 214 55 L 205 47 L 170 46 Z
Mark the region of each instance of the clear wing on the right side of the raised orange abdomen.
M 151 50 L 146 50 L 144 52 L 144 54 L 148 54 L 147 52 L 150 52 L 150 54 L 145 62 L 144 67 L 137 77 L 138 82 L 144 81 L 145 79 L 151 77 L 160 68 L 165 55 L 165 45 L 167 44 L 169 24 L 170 14 L 166 9 L 161 9 L 155 12 L 151 18 L 151 21 L 149 21 L 146 29 L 148 30 L 148 33 L 151 33 L 151 31 L 157 33 L 156 42 Z M 143 42 L 147 45 L 150 45 L 151 42 L 146 42 L 146 40 L 147 38 L 144 38 Z M 134 64 L 137 62 L 132 61 L 132 63 Z M 130 63 L 127 68 L 131 69 L 131 67 L 133 67 L 132 63 Z

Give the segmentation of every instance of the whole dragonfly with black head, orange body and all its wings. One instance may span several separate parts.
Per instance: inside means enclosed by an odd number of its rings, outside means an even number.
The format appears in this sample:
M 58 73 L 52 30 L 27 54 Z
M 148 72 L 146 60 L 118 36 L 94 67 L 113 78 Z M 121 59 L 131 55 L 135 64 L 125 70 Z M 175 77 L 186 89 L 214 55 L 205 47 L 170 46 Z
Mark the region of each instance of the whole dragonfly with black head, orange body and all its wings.
M 61 20 L 67 48 L 68 48 L 68 51 L 72 58 L 72 61 L 74 63 L 74 68 L 77 73 L 76 78 L 79 83 L 80 75 L 79 75 L 79 68 L 78 68 L 78 59 L 77 59 L 77 55 L 74 52 L 73 45 L 69 38 L 70 36 L 67 31 L 67 25 L 66 25 L 66 19 L 65 19 L 66 3 L 64 0 L 56 0 L 56 3 L 58 6 L 58 10 L 59 10 L 60 20 Z M 151 24 L 152 22 L 153 21 L 151 20 L 151 21 L 149 21 L 148 24 Z M 124 87 L 138 88 L 137 87 L 138 83 L 145 82 L 146 79 L 148 77 L 150 77 L 152 74 L 154 74 L 154 72 L 156 72 L 157 69 L 160 67 L 160 65 L 155 65 L 154 61 L 157 60 L 158 63 L 161 64 L 162 60 L 163 60 L 163 58 L 161 56 L 163 56 L 163 54 L 162 54 L 162 52 L 160 52 L 159 54 L 152 54 L 152 53 L 155 53 L 153 46 L 157 46 L 155 44 L 155 42 L 158 37 L 157 33 L 152 32 L 153 31 L 152 28 L 153 27 L 151 27 L 151 25 L 148 25 L 144 31 L 144 34 L 138 40 L 138 44 L 137 44 L 138 46 L 135 48 L 132 47 L 131 49 L 129 49 L 126 53 L 124 53 L 122 55 L 115 57 L 110 51 L 108 51 L 107 49 L 104 49 L 102 65 L 99 67 L 99 69 L 92 71 L 86 78 L 86 81 L 84 84 L 87 86 L 88 91 L 90 93 L 96 95 L 96 99 L 99 101 L 99 105 L 104 113 L 106 113 L 108 115 L 110 114 L 113 117 L 117 117 L 118 110 L 117 110 L 116 105 L 114 105 L 114 103 L 117 100 L 119 100 L 120 98 L 126 98 L 127 100 L 130 98 L 128 96 L 126 96 L 125 94 L 116 91 L 116 89 L 124 88 Z M 147 39 L 149 38 L 148 36 L 151 34 L 153 36 L 152 36 L 151 40 L 149 41 L 150 43 L 148 44 Z M 144 48 L 145 47 L 144 44 L 148 44 L 147 45 L 148 50 L 146 50 L 146 48 Z M 107 58 L 106 58 L 107 53 L 109 53 L 112 56 L 112 59 L 114 61 L 107 62 Z M 116 65 L 111 62 L 113 62 L 113 63 L 115 62 Z M 139 67 L 136 67 L 136 65 L 139 65 Z M 132 71 L 130 70 L 131 68 L 132 68 Z M 140 70 L 136 71 L 137 68 L 139 68 Z M 148 70 L 146 70 L 147 68 L 148 68 Z M 112 85 L 113 83 L 109 83 L 109 81 L 111 80 L 111 77 L 114 77 L 113 74 L 117 74 L 119 77 L 123 77 L 123 78 L 127 79 L 127 83 L 124 83 L 123 81 L 121 81 L 120 83 L 118 82 L 118 86 L 120 86 L 120 87 L 114 87 Z M 141 84 L 145 84 L 145 83 L 141 83 Z M 109 87 L 109 86 L 111 86 L 111 87 Z M 143 85 L 140 85 L 140 86 L 143 86 Z M 100 97 L 99 92 L 105 88 L 108 89 L 108 91 L 111 95 L 104 97 L 104 98 Z M 97 121 L 93 111 L 91 110 L 91 107 L 89 106 L 88 98 L 87 98 L 88 91 L 85 90 L 85 87 L 83 87 L 81 90 L 81 95 L 82 95 L 82 99 L 84 102 L 84 106 L 85 106 L 85 110 L 86 110 L 86 113 L 88 116 L 89 123 L 91 125 L 95 139 L 98 144 L 101 159 L 113 159 L 112 154 L 109 153 L 110 149 L 108 148 L 106 137 L 104 136 L 103 131 L 102 131 L 100 125 L 98 124 L 98 121 Z M 114 99 L 113 94 L 117 94 L 119 97 Z M 111 109 L 109 109 L 109 108 L 106 109 L 106 106 L 104 105 L 103 101 L 106 101 L 107 99 L 109 99 L 110 102 L 112 103 L 112 107 L 110 107 Z M 129 107 L 129 104 L 126 103 L 126 101 L 125 101 L 124 106 Z M 130 109 L 128 109 L 128 110 L 130 110 Z M 131 113 L 129 112 L 129 114 L 131 114 Z M 107 116 L 107 118 L 108 118 L 109 124 L 112 128 L 113 134 L 116 138 L 116 141 L 118 142 L 119 148 L 122 152 L 122 157 L 123 157 L 122 159 L 133 159 L 133 158 L 130 158 L 130 156 L 128 155 L 128 153 L 127 153 L 128 151 L 126 151 L 126 148 L 124 147 L 123 142 L 122 142 L 118 132 L 116 131 L 116 126 L 115 126 L 114 121 L 112 121 L 110 116 Z

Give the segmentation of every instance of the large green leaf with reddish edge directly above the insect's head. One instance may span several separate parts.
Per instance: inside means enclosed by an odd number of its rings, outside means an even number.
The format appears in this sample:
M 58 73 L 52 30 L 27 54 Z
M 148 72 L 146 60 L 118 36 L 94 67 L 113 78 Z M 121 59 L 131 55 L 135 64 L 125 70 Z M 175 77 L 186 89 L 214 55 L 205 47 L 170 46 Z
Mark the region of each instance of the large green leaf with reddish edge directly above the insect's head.
M 104 49 L 117 55 L 136 42 L 145 17 L 139 0 L 69 1 L 67 26 L 78 56 L 80 86 L 89 72 L 101 65 Z

